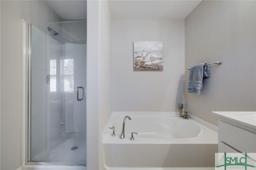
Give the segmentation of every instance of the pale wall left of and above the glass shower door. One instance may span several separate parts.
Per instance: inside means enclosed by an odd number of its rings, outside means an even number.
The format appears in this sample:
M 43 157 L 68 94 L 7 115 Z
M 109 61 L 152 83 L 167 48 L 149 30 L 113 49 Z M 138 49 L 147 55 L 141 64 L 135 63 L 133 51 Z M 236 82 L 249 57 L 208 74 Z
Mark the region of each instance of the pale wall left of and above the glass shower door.
M 30 23 L 61 18 L 44 1 L 1 0 L 1 170 L 21 164 L 21 18 Z M 4 57 L 3 57 L 4 56 Z

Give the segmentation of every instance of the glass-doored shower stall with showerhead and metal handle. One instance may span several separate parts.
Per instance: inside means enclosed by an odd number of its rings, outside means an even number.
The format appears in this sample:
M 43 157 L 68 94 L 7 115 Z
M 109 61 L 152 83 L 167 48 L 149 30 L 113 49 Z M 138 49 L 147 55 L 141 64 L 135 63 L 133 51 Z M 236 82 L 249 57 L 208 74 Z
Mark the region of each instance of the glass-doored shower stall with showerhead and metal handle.
M 29 164 L 86 166 L 86 20 L 28 25 Z

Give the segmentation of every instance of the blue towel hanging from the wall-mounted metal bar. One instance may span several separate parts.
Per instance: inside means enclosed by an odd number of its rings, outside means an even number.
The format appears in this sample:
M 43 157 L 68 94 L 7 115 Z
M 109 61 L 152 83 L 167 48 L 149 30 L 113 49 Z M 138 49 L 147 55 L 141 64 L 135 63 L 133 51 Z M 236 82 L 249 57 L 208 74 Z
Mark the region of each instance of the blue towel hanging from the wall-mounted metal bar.
M 200 94 L 203 87 L 203 78 L 211 76 L 210 66 L 200 63 L 192 66 L 188 78 L 188 93 Z

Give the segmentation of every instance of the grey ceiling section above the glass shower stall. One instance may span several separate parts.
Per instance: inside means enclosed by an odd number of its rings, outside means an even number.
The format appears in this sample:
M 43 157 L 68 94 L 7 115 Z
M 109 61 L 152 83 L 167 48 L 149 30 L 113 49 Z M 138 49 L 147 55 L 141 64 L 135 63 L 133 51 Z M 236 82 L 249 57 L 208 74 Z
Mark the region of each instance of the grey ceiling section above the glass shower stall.
M 63 20 L 86 20 L 86 0 L 46 0 Z

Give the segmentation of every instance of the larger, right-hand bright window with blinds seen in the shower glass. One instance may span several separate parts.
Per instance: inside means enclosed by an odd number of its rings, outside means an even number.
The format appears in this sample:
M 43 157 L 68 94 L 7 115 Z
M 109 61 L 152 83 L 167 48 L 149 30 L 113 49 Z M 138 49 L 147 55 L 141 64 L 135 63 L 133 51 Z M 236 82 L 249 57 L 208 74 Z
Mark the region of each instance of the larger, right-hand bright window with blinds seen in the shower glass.
M 61 92 L 74 92 L 74 59 L 60 60 Z

